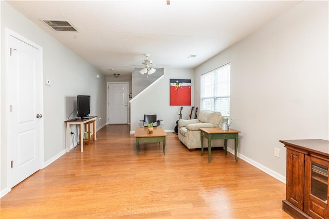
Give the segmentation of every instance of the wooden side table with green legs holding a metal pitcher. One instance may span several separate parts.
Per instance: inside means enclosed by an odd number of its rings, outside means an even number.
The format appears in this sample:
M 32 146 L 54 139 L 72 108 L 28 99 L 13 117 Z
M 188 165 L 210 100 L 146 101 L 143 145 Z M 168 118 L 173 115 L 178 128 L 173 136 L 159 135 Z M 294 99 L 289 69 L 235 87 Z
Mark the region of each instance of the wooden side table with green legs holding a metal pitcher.
M 201 156 L 204 155 L 204 138 L 208 139 L 208 163 L 211 161 L 211 140 L 213 139 L 224 139 L 224 150 L 227 154 L 227 139 L 234 139 L 234 157 L 237 161 L 237 144 L 239 142 L 240 131 L 229 129 L 223 131 L 220 127 L 206 127 L 199 128 L 200 139 L 201 139 Z

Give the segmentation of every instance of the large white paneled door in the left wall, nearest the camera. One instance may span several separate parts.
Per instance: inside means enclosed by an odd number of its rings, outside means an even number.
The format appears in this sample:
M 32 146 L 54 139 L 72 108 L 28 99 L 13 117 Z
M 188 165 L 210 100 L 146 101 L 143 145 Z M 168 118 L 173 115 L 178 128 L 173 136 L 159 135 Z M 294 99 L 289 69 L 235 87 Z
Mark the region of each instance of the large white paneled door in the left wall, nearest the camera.
M 12 188 L 41 169 L 42 49 L 12 35 L 9 35 L 9 47 L 9 153 Z

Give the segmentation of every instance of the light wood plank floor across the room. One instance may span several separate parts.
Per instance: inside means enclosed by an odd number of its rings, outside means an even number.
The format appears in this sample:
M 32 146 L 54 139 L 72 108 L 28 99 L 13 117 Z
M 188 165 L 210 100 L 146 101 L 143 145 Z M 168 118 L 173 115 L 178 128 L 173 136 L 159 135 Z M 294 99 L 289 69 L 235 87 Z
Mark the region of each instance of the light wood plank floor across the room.
M 200 156 L 176 134 L 140 145 L 107 125 L 1 198 L 1 218 L 291 218 L 285 184 L 223 150 Z M 45 143 L 47 147 L 47 143 Z

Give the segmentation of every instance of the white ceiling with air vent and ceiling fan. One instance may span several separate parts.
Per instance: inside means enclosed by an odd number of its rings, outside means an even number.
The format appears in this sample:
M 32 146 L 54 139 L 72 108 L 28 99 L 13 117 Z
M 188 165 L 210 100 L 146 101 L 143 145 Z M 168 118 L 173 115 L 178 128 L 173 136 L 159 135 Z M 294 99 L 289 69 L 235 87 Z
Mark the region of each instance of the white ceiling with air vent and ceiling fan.
M 144 53 L 156 67 L 195 68 L 300 1 L 7 1 L 104 75 L 130 74 Z M 40 19 L 66 20 L 56 32 Z M 195 58 L 189 58 L 195 54 Z M 127 66 L 130 65 L 130 66 Z M 135 66 L 132 66 L 135 65 Z M 140 65 L 140 66 L 138 66 Z M 109 70 L 109 69 L 114 70 Z

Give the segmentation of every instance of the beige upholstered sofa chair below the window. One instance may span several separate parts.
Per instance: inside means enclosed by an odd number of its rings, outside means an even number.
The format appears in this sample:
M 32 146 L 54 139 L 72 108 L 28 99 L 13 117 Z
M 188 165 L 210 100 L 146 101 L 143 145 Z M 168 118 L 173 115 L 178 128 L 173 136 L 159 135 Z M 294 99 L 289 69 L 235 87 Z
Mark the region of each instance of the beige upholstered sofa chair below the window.
M 179 119 L 178 139 L 190 150 L 201 148 L 200 127 L 218 127 L 222 119 L 220 112 L 202 110 L 197 119 Z M 208 147 L 207 139 L 204 140 L 204 147 Z M 211 147 L 224 147 L 224 140 L 212 140 Z

